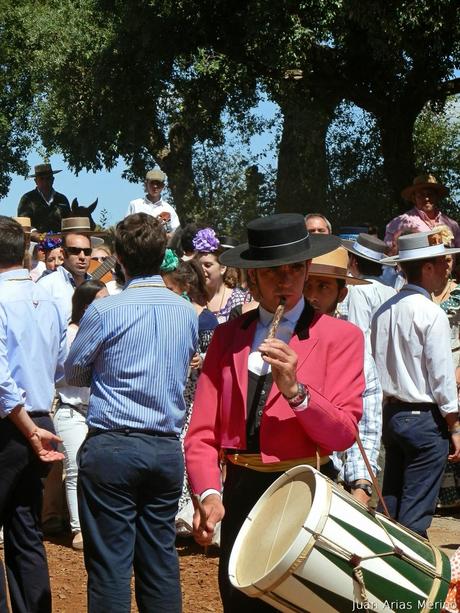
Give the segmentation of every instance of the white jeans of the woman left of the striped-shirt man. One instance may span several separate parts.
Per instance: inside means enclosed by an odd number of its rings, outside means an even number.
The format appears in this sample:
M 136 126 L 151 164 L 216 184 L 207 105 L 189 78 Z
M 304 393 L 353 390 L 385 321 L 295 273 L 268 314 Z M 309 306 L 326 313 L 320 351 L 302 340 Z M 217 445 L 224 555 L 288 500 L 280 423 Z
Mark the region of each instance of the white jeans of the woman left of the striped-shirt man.
M 61 405 L 54 416 L 56 434 L 62 439 L 62 451 L 65 455 L 65 492 L 70 515 L 72 533 L 80 532 L 77 499 L 77 452 L 88 433 L 86 418 L 67 405 Z

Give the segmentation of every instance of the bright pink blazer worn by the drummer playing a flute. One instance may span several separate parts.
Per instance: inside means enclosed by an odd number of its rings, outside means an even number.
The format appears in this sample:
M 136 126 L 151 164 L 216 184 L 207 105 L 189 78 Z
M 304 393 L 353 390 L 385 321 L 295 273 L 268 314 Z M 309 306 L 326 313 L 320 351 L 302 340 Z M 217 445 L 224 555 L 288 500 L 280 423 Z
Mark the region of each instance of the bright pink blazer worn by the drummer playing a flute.
M 220 490 L 221 449 L 245 449 L 248 356 L 256 324 L 257 311 L 222 324 L 208 348 L 185 438 L 187 473 L 196 493 Z M 295 412 L 273 384 L 260 425 L 264 462 L 347 449 L 362 414 L 359 328 L 327 315 L 312 317 L 307 304 L 289 346 L 299 356 L 297 378 L 308 386 L 310 403 Z

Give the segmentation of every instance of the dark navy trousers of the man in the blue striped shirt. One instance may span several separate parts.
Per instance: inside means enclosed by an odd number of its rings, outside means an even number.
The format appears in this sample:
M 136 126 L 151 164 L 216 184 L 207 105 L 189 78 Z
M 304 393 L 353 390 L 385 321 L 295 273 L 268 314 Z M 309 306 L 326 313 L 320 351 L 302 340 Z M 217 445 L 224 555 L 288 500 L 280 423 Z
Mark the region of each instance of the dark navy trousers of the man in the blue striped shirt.
M 184 476 L 179 440 L 97 434 L 83 443 L 78 463 L 89 613 L 129 612 L 133 569 L 141 613 L 179 613 L 174 524 Z

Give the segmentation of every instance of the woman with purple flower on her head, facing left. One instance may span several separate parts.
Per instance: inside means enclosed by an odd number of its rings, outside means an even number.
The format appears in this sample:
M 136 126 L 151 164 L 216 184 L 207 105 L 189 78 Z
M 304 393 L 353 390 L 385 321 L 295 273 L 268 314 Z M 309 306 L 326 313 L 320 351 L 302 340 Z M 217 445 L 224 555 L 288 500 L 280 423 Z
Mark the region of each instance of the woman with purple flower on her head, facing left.
M 223 266 L 219 256 L 225 251 L 212 228 L 199 230 L 193 239 L 197 252 L 195 256 L 203 269 L 207 288 L 207 307 L 224 323 L 230 311 L 246 301 L 247 292 L 237 287 L 238 275 L 235 269 Z

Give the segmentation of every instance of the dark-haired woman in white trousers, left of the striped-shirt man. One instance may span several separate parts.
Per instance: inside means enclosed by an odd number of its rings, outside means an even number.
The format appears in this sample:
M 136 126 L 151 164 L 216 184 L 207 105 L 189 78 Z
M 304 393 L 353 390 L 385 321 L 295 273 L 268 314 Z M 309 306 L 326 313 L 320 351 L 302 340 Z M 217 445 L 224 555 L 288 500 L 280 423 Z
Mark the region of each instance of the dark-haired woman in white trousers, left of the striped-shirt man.
M 67 329 L 68 346 L 75 339 L 80 320 L 88 306 L 98 298 L 108 296 L 107 288 L 102 281 L 85 281 L 72 297 L 72 316 Z M 86 413 L 88 411 L 89 388 L 64 385 L 58 387 L 60 403 L 54 415 L 54 427 L 57 435 L 62 439 L 62 450 L 65 456 L 65 489 L 67 506 L 70 515 L 72 530 L 72 547 L 83 549 L 83 539 L 80 530 L 77 502 L 77 452 L 86 438 L 88 427 Z

